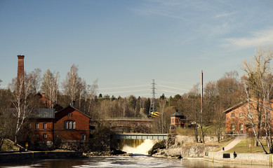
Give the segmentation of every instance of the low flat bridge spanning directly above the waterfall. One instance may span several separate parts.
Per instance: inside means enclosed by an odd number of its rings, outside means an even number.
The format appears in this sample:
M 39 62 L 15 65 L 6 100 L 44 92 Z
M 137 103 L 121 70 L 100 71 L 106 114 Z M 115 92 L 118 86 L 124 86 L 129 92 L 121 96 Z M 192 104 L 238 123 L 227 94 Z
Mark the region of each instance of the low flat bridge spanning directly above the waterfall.
M 168 134 L 113 134 L 112 139 L 168 139 Z

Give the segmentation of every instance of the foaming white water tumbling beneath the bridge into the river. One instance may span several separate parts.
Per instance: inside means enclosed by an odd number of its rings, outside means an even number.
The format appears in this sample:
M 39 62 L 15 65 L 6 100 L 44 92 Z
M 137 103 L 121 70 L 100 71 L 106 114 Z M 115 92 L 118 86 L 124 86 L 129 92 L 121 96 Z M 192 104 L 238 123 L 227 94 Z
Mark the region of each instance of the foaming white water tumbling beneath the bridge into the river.
M 122 151 L 126 153 L 148 155 L 148 151 L 152 148 L 152 146 L 154 146 L 154 144 L 154 140 L 145 139 L 145 141 L 140 144 L 140 146 L 137 146 L 136 148 L 133 148 L 131 146 L 124 146 L 124 148 L 122 148 Z

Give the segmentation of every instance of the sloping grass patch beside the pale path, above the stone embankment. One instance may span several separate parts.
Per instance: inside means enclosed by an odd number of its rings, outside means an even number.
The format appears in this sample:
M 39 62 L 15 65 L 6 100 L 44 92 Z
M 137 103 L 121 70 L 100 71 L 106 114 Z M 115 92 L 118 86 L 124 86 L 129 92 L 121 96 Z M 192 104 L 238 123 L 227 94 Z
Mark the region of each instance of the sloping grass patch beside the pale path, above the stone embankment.
M 251 142 L 251 148 L 249 148 L 249 144 Z M 234 151 L 236 153 L 265 153 L 262 151 L 262 148 L 260 146 L 254 146 L 255 141 L 253 139 L 243 139 L 239 144 L 234 146 L 234 148 L 231 148 L 229 151 L 226 151 L 226 153 L 233 153 Z M 265 147 L 265 150 L 267 150 L 266 141 L 262 141 L 262 145 Z

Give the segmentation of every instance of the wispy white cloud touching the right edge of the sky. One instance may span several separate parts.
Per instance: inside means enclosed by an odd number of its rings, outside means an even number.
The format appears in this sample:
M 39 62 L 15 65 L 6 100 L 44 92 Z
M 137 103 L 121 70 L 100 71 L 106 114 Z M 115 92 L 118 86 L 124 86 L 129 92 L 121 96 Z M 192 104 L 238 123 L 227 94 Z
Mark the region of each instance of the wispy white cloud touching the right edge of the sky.
M 262 45 L 273 44 L 273 28 L 267 30 L 256 31 L 249 37 L 245 38 L 226 38 L 224 46 L 237 47 L 237 48 L 249 48 Z

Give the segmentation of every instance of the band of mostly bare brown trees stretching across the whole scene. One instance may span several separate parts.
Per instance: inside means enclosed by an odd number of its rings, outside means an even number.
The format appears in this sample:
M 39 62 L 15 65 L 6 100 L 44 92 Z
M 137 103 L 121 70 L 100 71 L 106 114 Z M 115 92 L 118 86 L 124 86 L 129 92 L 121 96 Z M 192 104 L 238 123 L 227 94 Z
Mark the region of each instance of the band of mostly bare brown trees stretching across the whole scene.
M 237 71 L 230 71 L 218 80 L 208 81 L 204 86 L 202 115 L 200 83 L 194 85 L 185 94 L 176 94 L 173 97 L 165 97 L 162 94 L 156 99 L 156 109 L 160 116 L 154 118 L 152 132 L 169 132 L 170 116 L 178 111 L 192 121 L 197 142 L 205 142 L 202 135 L 208 134 L 207 130 L 211 127 L 214 128 L 214 134 L 219 141 L 225 132 L 225 113 L 222 112 L 240 102 L 249 102 L 248 100 L 255 99 L 260 102 L 260 108 L 250 108 L 246 113 L 256 111 L 255 115 L 257 115 L 258 120 L 249 118 L 252 122 L 254 136 L 258 143 L 261 136 L 266 136 L 269 153 L 272 153 L 272 118 L 270 117 L 272 109 L 270 104 L 268 105 L 273 97 L 271 60 L 272 50 L 270 48 L 259 48 L 252 61 L 242 62 L 241 69 L 244 71 L 244 75 L 239 76 Z M 98 80 L 86 84 L 86 81 L 79 76 L 78 66 L 75 64 L 70 67 L 65 80 L 62 82 L 59 80 L 58 72 L 52 72 L 48 69 L 41 77 L 41 70 L 35 69 L 30 73 L 25 72 L 24 80 L 14 78 L 8 89 L 0 90 L 1 139 L 9 137 L 16 141 L 24 121 L 27 120 L 27 115 L 32 112 L 33 108 L 45 106 L 35 101 L 39 93 L 45 93 L 50 100 L 49 108 L 53 108 L 56 104 L 65 107 L 74 102 L 76 109 L 91 116 L 92 120 L 149 117 L 151 99 L 135 97 L 134 95 L 110 97 L 109 95 L 98 94 Z M 22 85 L 22 82 L 25 85 L 24 89 L 18 87 L 20 83 Z M 60 91 L 60 87 L 62 91 Z M 16 113 L 8 113 L 6 109 L 9 108 L 16 109 Z M 15 118 L 13 122 L 6 120 L 11 116 Z M 201 126 L 204 126 L 202 130 L 200 130 Z M 260 146 L 262 146 L 261 143 Z

